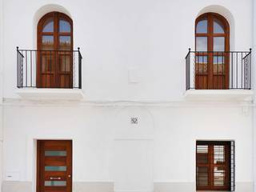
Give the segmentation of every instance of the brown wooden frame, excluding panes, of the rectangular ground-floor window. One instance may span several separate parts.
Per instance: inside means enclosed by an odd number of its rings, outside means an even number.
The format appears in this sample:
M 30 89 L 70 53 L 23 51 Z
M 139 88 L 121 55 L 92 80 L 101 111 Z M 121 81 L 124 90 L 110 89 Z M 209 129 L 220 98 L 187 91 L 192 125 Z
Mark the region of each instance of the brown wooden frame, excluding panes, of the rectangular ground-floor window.
M 197 142 L 198 146 L 208 146 L 207 162 L 199 161 L 200 155 L 197 150 L 196 166 L 197 166 L 197 190 L 230 190 L 230 142 Z M 214 163 L 214 146 L 224 147 L 224 162 Z M 215 154 L 216 155 L 216 154 Z M 198 167 L 207 167 L 208 169 L 208 186 L 198 185 Z M 214 185 L 214 168 L 225 171 L 224 185 Z

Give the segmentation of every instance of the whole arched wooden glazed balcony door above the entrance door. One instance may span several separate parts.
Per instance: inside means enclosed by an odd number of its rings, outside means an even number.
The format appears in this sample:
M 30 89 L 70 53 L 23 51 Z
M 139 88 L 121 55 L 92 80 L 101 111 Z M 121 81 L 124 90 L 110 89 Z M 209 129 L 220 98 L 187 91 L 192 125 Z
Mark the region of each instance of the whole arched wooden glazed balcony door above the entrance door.
M 72 87 L 73 22 L 66 14 L 51 12 L 38 22 L 37 61 L 38 87 Z

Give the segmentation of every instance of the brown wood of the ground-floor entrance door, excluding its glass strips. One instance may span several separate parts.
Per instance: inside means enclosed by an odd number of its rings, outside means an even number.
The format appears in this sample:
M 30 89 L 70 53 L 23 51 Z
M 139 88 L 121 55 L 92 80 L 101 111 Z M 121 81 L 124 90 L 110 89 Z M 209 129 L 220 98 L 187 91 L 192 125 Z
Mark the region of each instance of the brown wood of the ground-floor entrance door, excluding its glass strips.
M 46 150 L 65 150 L 66 156 L 46 156 Z M 38 140 L 37 154 L 37 192 L 71 192 L 72 141 Z M 66 171 L 46 171 L 45 166 L 66 166 Z M 66 186 L 45 186 L 45 181 L 66 181 Z

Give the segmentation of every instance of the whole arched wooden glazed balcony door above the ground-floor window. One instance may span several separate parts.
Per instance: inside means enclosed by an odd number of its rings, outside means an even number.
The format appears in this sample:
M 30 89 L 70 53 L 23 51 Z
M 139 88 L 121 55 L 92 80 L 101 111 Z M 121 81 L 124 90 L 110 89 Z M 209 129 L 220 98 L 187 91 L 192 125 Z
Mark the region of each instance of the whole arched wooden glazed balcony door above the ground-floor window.
M 230 27 L 219 14 L 200 15 L 195 22 L 195 88 L 229 87 Z

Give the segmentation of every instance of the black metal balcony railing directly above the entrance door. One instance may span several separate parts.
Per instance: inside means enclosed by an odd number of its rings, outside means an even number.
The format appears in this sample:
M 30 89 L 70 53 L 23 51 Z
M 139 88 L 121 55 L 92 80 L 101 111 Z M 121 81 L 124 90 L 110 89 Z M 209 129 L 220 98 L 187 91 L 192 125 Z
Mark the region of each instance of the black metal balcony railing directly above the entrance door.
M 82 89 L 82 54 L 78 50 L 19 50 L 17 87 Z

